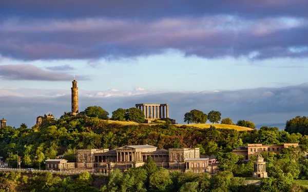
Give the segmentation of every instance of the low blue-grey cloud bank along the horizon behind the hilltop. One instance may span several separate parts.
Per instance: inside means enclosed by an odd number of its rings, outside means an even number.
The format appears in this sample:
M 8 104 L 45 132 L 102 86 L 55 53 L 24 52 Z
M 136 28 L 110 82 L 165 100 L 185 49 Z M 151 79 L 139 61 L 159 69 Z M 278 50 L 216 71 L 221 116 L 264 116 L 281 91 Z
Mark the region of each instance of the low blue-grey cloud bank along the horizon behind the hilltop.
M 2 91 L 4 88 L 0 89 L 0 93 Z M 31 96 L 0 94 L 3 95 L 0 97 L 2 103 L 0 118 L 7 119 L 8 125 L 19 126 L 21 123 L 26 123 L 32 126 L 35 124 L 35 118 L 44 113 L 52 112 L 56 118 L 60 118 L 64 111 L 70 110 L 69 90 L 23 89 L 22 92 L 23 94 L 31 92 Z M 46 95 L 37 97 L 36 92 L 44 92 Z M 257 124 L 285 123 L 286 120 L 296 116 L 307 116 L 308 113 L 306 99 L 308 84 L 219 92 L 146 93 L 147 91 L 144 91 L 146 94 L 141 94 L 142 92 L 138 94 L 121 93 L 115 90 L 107 92 L 102 91 L 96 97 L 95 94 L 93 97 L 86 97 L 87 91 L 80 90 L 80 111 L 88 106 L 99 105 L 111 114 L 117 108 L 134 107 L 136 103 L 168 103 L 170 118 L 176 119 L 179 123 L 183 123 L 185 112 L 199 109 L 206 113 L 210 110 L 221 111 L 222 118 L 229 117 L 234 122 L 245 119 Z M 114 94 L 111 94 L 112 92 Z M 102 97 L 103 94 L 105 97 Z

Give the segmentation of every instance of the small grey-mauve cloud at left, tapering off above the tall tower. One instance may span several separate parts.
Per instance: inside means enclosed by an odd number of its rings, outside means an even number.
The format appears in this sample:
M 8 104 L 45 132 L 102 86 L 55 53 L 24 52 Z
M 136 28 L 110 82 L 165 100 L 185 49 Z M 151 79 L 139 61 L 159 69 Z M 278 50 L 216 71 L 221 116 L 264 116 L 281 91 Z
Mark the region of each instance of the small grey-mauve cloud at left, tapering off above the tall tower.
M 0 79 L 30 81 L 68 81 L 72 75 L 64 72 L 43 70 L 30 64 L 0 65 Z M 81 76 L 80 79 L 86 79 Z

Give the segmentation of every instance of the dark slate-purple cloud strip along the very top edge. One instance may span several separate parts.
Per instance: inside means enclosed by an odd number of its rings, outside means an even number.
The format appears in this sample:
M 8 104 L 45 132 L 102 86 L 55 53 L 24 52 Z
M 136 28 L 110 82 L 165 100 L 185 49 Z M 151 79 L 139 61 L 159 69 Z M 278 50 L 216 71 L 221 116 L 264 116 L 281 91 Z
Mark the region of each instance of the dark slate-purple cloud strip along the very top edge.
M 8 16 L 76 18 L 76 17 L 115 17 L 153 20 L 161 17 L 203 16 L 215 14 L 236 14 L 245 17 L 300 16 L 307 17 L 306 0 L 39 0 L 2 1 L 0 18 Z

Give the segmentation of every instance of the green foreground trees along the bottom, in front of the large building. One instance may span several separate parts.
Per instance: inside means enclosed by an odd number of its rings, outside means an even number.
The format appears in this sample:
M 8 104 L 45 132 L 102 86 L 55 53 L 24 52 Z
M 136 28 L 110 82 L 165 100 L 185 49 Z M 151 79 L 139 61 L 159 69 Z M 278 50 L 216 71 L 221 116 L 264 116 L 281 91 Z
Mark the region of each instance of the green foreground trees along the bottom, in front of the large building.
M 0 191 L 308 191 L 292 181 L 290 174 L 264 179 L 258 185 L 245 185 L 245 179 L 222 171 L 211 177 L 207 173 L 169 172 L 157 167 L 151 158 L 144 166 L 121 172 L 115 169 L 109 176 L 94 176 L 83 172 L 78 176 L 51 173 L 23 174 L 0 172 Z

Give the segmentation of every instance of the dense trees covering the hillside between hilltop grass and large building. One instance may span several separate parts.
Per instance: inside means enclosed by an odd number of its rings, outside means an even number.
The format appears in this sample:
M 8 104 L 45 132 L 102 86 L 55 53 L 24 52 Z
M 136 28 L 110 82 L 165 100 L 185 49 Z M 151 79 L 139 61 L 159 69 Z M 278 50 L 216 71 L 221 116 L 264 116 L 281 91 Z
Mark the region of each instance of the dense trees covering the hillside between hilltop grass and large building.
M 40 127 L 0 129 L 0 157 L 12 159 L 16 166 L 16 151 L 22 157 L 22 166 L 38 166 L 46 159 L 65 153 L 73 155 L 74 149 L 109 148 L 123 145 L 149 144 L 158 148 L 200 147 L 201 153 L 218 155 L 247 143 L 280 144 L 300 143 L 308 148 L 308 136 L 262 127 L 260 130 L 237 131 L 234 129 L 201 129 L 175 126 L 170 123 L 157 125 L 121 125 L 108 123 L 87 116 L 46 120 Z

